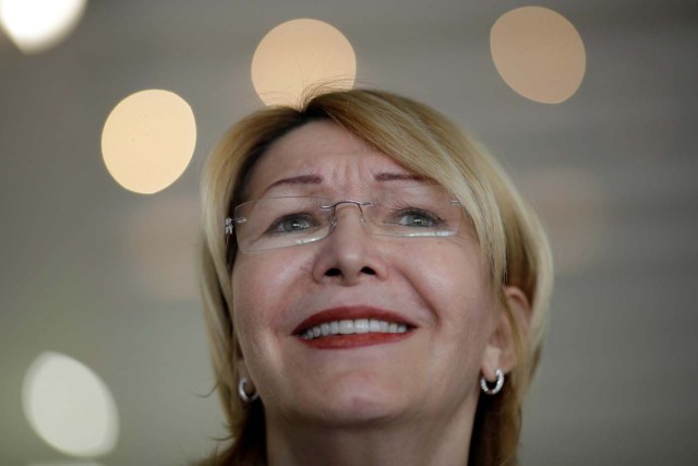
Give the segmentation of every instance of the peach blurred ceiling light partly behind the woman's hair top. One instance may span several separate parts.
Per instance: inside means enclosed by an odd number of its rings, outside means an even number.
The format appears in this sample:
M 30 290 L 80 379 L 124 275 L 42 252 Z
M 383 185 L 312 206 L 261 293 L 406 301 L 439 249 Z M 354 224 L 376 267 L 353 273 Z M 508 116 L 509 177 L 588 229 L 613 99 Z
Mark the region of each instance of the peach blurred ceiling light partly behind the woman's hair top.
M 252 59 L 252 83 L 268 106 L 299 104 L 318 84 L 332 89 L 353 86 L 357 57 L 347 38 L 317 20 L 291 20 L 262 39 Z

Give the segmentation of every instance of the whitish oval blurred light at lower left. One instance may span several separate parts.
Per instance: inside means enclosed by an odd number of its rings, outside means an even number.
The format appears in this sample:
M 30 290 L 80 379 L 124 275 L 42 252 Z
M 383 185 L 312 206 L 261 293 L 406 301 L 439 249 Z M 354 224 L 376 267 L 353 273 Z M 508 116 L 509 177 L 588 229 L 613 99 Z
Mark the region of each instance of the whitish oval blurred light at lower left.
M 47 351 L 36 358 L 24 378 L 22 405 L 34 431 L 63 453 L 98 456 L 117 443 L 119 418 L 109 389 L 65 355 Z

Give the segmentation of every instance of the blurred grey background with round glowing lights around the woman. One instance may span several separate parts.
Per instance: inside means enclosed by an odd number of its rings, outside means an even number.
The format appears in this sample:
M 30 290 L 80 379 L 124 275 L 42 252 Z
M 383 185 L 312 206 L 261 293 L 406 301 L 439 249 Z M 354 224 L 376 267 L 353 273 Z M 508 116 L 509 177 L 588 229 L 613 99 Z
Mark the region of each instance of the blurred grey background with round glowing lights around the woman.
M 214 447 L 201 166 L 316 75 L 442 110 L 540 211 L 522 464 L 697 464 L 698 4 L 535 5 L 0 0 L 0 464 Z

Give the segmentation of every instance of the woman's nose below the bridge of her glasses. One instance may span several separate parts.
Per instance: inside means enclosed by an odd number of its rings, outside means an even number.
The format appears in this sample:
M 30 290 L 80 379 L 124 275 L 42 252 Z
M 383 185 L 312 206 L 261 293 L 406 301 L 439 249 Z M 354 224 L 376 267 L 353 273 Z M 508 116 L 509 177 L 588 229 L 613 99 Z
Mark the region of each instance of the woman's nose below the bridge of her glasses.
M 313 266 L 316 283 L 351 286 L 363 279 L 387 277 L 385 258 L 356 202 L 342 202 L 334 207 L 333 230 L 318 246 Z

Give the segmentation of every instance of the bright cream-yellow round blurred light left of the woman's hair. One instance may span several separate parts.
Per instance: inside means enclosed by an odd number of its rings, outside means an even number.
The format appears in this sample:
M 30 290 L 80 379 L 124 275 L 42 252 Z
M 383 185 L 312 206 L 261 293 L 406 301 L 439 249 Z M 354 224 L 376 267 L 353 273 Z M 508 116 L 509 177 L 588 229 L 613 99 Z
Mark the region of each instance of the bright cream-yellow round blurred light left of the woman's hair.
M 109 113 L 101 132 L 107 170 L 123 188 L 153 194 L 186 169 L 196 145 L 196 120 L 177 94 L 149 89 L 131 94 Z

